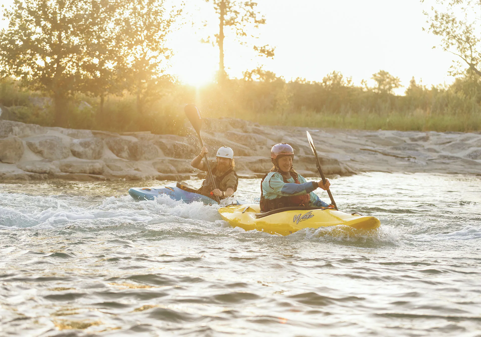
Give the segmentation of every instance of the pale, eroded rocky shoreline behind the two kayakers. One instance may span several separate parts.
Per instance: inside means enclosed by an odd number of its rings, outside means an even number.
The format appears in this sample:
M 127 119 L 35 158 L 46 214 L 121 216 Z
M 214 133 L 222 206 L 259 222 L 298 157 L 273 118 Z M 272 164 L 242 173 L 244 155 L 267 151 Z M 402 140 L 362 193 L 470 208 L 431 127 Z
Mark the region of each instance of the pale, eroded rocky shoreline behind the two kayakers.
M 306 130 L 313 136 L 327 175 L 363 171 L 481 174 L 479 132 L 271 127 L 222 118 L 204 120 L 203 141 L 211 154 L 222 145 L 232 147 L 241 178 L 262 177 L 272 167 L 270 147 L 286 142 L 296 151 L 295 169 L 306 177 L 317 177 Z M 119 134 L 0 120 L 0 181 L 203 178 L 203 172 L 190 167 L 200 146 L 192 129 L 188 134 Z

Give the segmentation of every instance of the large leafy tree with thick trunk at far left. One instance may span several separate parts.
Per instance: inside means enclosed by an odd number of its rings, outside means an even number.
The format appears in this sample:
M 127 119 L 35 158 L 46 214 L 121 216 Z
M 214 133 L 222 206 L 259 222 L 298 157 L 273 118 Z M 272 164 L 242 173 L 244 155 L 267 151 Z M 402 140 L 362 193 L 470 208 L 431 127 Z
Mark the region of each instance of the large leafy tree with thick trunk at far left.
M 3 76 L 13 75 L 32 90 L 53 99 L 55 124 L 65 124 L 67 99 L 80 79 L 85 51 L 81 29 L 89 7 L 87 0 L 14 0 L 0 32 Z

